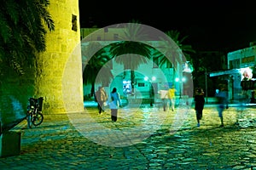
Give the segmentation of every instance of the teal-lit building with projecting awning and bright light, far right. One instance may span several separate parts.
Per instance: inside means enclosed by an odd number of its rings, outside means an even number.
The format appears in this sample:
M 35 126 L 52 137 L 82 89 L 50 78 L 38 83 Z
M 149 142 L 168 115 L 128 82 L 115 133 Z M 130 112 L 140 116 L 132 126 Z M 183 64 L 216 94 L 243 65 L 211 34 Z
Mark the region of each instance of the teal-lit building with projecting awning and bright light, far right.
M 212 72 L 211 77 L 224 77 L 228 84 L 230 100 L 241 100 L 245 97 L 254 99 L 255 87 L 255 66 L 256 66 L 256 46 L 242 48 L 227 54 L 227 66 L 225 71 Z M 245 82 L 245 83 L 243 83 Z M 243 87 L 243 84 L 251 83 L 250 88 Z M 254 86 L 254 87 L 253 87 Z

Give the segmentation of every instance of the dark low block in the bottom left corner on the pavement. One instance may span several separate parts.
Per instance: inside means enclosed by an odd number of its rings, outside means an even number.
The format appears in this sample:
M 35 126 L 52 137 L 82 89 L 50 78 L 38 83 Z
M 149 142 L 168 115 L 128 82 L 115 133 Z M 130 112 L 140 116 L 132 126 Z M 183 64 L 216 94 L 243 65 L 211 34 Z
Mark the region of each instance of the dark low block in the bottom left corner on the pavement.
M 8 131 L 0 136 L 0 157 L 20 155 L 20 132 Z

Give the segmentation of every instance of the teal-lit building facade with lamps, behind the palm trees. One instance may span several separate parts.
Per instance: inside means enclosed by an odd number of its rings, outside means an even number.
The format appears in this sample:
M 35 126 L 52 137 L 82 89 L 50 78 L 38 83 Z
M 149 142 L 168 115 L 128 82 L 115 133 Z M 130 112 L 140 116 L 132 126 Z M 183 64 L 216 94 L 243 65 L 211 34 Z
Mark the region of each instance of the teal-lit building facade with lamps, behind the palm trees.
M 83 48 L 89 47 L 91 42 L 98 42 L 102 47 L 106 47 L 125 36 L 122 28 L 81 28 L 80 31 L 83 58 L 88 58 L 88 56 L 84 56 L 88 53 L 83 53 Z M 162 43 L 164 42 L 160 39 L 140 42 L 152 47 L 152 57 L 147 59 L 147 62 L 140 64 L 135 70 L 134 94 L 131 94 L 131 71 L 129 69 L 125 70 L 124 65 L 120 65 L 114 59 L 108 61 L 111 62 L 111 71 L 114 77 L 110 84 L 105 85 L 108 93 L 113 87 L 116 87 L 122 98 L 150 99 L 154 98 L 161 88 L 173 85 L 177 88 L 177 95 L 182 94 L 184 82 L 181 83 L 181 81 L 175 81 L 175 79 L 182 80 L 186 61 L 182 60 L 181 62 L 179 59 L 174 59 L 175 63 L 171 65 L 170 63 L 160 65 L 160 59 L 154 58 L 154 48 L 163 46 Z M 174 65 L 176 66 L 174 67 Z M 102 86 L 102 84 L 96 84 L 95 89 L 97 89 L 97 86 Z M 90 88 L 91 85 L 84 85 L 84 95 L 90 94 Z

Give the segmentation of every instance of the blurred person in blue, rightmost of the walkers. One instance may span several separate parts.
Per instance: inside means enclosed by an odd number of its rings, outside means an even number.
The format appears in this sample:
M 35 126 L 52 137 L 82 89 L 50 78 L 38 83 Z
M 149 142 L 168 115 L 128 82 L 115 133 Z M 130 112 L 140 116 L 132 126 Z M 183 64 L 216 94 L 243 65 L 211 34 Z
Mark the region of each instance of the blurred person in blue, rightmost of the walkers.
M 227 89 L 225 88 L 225 85 L 221 84 L 219 88 L 220 89 L 216 94 L 216 98 L 218 101 L 217 110 L 218 110 L 218 116 L 220 118 L 219 127 L 224 127 L 223 112 L 224 112 L 224 109 L 229 108 L 229 99 L 228 99 L 228 92 L 227 92 Z

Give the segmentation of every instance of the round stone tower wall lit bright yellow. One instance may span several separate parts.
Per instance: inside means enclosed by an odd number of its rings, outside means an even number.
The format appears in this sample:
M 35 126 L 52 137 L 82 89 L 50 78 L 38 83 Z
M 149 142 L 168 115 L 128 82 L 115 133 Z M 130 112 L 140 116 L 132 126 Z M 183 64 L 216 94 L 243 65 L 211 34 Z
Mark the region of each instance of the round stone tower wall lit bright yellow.
M 36 95 L 44 97 L 45 114 L 83 111 L 79 0 L 51 0 L 55 31 L 46 36 L 46 52 L 38 54 Z

